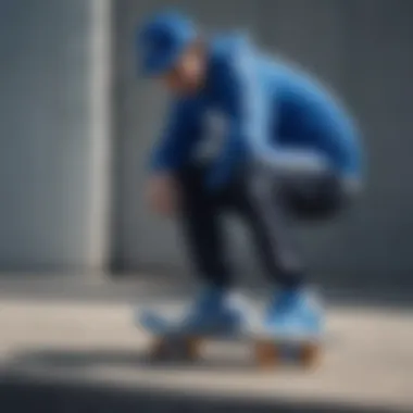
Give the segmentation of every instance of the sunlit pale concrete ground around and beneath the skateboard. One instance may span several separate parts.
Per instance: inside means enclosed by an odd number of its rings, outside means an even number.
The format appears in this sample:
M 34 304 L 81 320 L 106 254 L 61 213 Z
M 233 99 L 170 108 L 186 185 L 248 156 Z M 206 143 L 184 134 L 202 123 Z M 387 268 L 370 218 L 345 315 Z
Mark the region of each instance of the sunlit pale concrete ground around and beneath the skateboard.
M 0 405 L 13 408 L 1 411 L 413 411 L 405 303 L 331 298 L 314 372 L 262 372 L 248 348 L 229 345 L 211 345 L 193 365 L 148 363 L 150 338 L 133 325 L 132 304 L 170 312 L 184 296 L 150 279 L 1 278 Z

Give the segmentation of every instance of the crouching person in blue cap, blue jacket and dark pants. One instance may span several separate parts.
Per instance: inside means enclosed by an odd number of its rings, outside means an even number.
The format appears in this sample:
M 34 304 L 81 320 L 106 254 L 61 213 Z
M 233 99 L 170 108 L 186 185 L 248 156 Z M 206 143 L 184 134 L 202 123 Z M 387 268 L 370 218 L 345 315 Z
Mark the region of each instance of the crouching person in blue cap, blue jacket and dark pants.
M 320 306 L 288 221 L 331 218 L 360 187 L 361 151 L 350 116 L 316 80 L 272 59 L 240 34 L 204 36 L 177 12 L 137 33 L 142 72 L 171 92 L 150 159 L 148 199 L 182 223 L 205 288 L 182 327 L 238 328 L 222 213 L 236 213 L 274 285 L 262 317 L 268 334 L 317 334 Z M 213 129 L 213 130 L 211 130 Z

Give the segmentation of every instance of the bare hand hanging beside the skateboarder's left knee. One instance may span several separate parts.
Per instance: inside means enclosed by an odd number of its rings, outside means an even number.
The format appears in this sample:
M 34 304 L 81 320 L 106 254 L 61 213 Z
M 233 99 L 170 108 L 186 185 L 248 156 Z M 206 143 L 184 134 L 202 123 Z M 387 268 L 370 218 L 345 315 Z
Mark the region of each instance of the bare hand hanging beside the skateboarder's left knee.
M 178 206 L 178 188 L 175 178 L 167 173 L 150 176 L 147 199 L 153 212 L 172 216 Z

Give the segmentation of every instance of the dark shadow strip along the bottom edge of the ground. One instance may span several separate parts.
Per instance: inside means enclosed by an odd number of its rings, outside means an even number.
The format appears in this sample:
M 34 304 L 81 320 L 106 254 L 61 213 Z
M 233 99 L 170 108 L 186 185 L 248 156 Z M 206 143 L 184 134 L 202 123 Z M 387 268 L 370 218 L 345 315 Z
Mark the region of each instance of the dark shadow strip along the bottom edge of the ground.
M 173 393 L 145 387 L 126 389 L 116 387 L 57 384 L 25 377 L 0 383 L 0 405 L 5 412 L 228 412 L 237 413 L 397 413 L 368 406 L 351 406 L 317 402 L 271 402 L 237 400 L 236 398 L 200 397 Z

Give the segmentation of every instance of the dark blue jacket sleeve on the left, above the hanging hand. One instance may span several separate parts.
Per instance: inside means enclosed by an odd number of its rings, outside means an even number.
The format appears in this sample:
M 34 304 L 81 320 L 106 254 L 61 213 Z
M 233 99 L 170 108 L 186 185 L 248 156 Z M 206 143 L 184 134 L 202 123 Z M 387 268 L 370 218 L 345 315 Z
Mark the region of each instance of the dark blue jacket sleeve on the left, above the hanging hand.
M 196 111 L 187 101 L 176 101 L 170 108 L 166 127 L 152 149 L 151 172 L 175 172 L 189 159 L 198 137 Z

